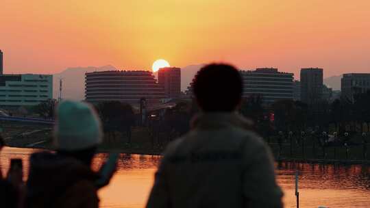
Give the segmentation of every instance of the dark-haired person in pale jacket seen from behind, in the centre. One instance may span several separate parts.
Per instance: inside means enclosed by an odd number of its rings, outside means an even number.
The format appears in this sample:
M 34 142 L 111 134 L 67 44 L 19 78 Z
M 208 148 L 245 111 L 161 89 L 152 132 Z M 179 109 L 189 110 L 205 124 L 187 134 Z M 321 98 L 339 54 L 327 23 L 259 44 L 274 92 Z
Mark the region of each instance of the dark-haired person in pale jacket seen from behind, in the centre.
M 233 66 L 199 70 L 201 114 L 164 151 L 147 207 L 282 207 L 269 147 L 236 113 L 242 90 Z

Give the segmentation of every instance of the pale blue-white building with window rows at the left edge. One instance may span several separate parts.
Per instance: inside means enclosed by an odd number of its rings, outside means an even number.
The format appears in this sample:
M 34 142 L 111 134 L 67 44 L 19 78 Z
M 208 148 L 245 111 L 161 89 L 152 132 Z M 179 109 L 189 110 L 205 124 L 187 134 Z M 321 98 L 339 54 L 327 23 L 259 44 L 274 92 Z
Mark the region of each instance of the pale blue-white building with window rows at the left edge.
M 38 105 L 53 98 L 53 75 L 0 75 L 0 106 Z

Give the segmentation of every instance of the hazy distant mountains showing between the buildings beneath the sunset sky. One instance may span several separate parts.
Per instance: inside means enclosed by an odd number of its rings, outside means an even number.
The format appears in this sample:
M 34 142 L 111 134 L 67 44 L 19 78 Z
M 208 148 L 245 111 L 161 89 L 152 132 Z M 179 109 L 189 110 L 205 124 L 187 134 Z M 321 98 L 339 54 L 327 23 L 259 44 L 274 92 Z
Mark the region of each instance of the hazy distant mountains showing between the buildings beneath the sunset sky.
M 190 65 L 182 68 L 181 71 L 181 90 L 185 91 L 197 71 L 204 64 Z M 66 68 L 61 73 L 53 75 L 53 98 L 59 96 L 59 83 L 62 79 L 62 98 L 83 100 L 85 94 L 85 73 L 103 70 L 118 70 L 112 65 L 106 66 L 88 66 Z

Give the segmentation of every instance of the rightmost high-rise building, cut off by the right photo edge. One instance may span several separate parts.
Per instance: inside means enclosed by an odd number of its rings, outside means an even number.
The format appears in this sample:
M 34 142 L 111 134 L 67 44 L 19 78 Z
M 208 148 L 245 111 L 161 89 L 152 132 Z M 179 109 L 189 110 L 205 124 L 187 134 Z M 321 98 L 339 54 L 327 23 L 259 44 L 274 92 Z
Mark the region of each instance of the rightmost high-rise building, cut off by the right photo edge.
M 354 94 L 370 90 L 370 73 L 343 74 L 341 79 L 341 97 L 354 101 Z

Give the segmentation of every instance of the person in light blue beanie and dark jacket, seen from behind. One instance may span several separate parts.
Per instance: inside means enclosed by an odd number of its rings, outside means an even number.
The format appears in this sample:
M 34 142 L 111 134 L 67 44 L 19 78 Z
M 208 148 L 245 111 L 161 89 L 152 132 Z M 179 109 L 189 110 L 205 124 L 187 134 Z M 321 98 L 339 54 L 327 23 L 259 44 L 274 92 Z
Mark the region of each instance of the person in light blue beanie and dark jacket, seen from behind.
M 54 129 L 56 153 L 34 153 L 29 161 L 26 207 L 99 207 L 91 161 L 103 133 L 93 108 L 63 101 Z

